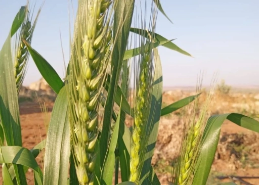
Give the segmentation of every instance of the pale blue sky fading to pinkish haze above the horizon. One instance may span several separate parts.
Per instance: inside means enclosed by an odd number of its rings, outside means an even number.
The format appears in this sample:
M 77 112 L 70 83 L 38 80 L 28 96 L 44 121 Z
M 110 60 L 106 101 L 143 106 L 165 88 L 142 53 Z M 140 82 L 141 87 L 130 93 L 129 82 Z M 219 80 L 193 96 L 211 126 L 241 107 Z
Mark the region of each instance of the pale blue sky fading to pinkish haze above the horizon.
M 35 2 L 37 10 L 42 1 L 31 1 Z M 72 2 L 76 4 L 77 0 Z M 156 32 L 167 39 L 177 38 L 174 43 L 194 56 L 160 47 L 164 86 L 195 86 L 196 76 L 203 70 L 206 72 L 204 85 L 210 83 L 214 72 L 219 72 L 219 80 L 225 79 L 233 86 L 259 85 L 258 0 L 160 2 L 174 24 L 160 13 Z M 1 48 L 16 13 L 25 4 L 26 0 L 0 1 Z M 46 0 L 31 44 L 61 77 L 65 70 L 60 31 L 66 64 L 69 59 L 68 8 L 68 1 Z M 24 85 L 40 77 L 30 60 Z

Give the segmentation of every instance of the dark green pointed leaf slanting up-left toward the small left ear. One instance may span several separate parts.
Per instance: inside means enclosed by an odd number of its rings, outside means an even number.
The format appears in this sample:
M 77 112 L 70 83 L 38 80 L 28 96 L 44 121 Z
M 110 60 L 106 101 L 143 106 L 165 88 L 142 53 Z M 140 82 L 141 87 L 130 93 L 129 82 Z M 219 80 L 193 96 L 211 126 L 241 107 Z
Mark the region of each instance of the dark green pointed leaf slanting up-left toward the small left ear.
M 34 63 L 36 64 L 40 74 L 44 79 L 48 82 L 50 87 L 59 94 L 60 89 L 63 87 L 63 81 L 59 77 L 58 73 L 55 69 L 34 49 L 31 48 L 30 44 L 23 40 L 28 49 L 31 58 L 33 59 Z

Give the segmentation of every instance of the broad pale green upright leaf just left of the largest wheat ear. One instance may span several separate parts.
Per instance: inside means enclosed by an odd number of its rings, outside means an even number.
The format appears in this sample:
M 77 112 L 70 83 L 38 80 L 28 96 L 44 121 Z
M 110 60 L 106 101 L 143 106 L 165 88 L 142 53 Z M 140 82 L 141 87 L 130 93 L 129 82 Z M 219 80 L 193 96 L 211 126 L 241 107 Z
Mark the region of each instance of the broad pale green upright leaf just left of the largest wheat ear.
M 67 90 L 67 86 L 60 90 L 51 115 L 45 153 L 44 184 L 67 183 L 70 156 Z

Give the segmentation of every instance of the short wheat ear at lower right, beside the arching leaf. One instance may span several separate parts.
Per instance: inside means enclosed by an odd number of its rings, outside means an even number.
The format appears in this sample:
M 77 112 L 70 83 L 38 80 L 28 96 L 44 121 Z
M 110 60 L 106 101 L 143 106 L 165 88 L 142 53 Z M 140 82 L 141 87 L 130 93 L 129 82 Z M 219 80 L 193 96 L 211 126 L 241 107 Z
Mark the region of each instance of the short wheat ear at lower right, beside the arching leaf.
M 200 90 L 201 84 L 198 86 L 197 92 L 199 93 Z M 180 185 L 185 185 L 192 183 L 192 177 L 197 165 L 199 152 L 202 147 L 202 136 L 204 133 L 204 128 L 206 126 L 206 121 L 211 110 L 213 90 L 214 84 L 212 84 L 208 92 L 208 96 L 203 105 L 198 120 L 196 121 L 195 117 L 197 114 L 199 98 L 197 98 L 194 102 L 194 114 L 192 115 L 192 118 L 190 118 L 189 121 L 185 123 L 183 143 L 181 146 L 180 160 L 178 164 L 179 166 L 177 167 L 178 170 L 176 173 L 178 182 L 176 181 L 176 184 L 179 183 Z

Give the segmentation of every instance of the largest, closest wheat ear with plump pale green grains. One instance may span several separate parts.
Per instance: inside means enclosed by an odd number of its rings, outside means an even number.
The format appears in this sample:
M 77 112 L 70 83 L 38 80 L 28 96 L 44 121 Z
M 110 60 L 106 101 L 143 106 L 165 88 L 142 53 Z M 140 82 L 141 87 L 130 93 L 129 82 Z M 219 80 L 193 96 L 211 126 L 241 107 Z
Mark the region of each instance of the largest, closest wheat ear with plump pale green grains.
M 111 30 L 105 21 L 111 1 L 83 1 L 78 9 L 75 52 L 70 65 L 70 128 L 80 184 L 94 184 L 98 103 L 108 65 Z

